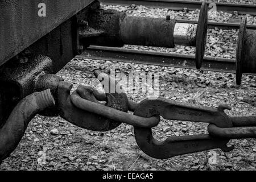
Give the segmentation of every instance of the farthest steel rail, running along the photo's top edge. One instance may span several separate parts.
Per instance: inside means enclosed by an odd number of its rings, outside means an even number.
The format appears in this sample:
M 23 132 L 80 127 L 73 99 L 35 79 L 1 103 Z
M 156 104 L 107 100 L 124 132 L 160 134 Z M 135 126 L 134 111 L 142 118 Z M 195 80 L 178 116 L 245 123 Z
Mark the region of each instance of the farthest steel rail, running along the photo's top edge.
M 199 1 L 175 1 L 175 0 L 100 0 L 105 5 L 143 5 L 154 8 L 167 8 L 170 10 L 181 10 L 188 8 L 188 10 L 200 9 L 201 3 Z M 209 5 L 209 2 L 208 2 Z M 256 15 L 256 5 L 247 4 L 228 4 L 228 3 L 216 3 L 217 11 L 224 11 L 233 13 L 238 11 L 240 14 Z

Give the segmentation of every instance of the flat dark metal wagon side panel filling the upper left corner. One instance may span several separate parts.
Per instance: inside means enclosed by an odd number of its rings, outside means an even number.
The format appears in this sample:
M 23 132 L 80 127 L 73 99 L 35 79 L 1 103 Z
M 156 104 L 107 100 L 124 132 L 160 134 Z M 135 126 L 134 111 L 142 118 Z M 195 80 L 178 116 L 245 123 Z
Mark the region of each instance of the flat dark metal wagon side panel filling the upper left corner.
M 31 46 L 94 0 L 44 1 L 46 16 L 39 17 L 39 0 L 0 1 L 0 65 Z

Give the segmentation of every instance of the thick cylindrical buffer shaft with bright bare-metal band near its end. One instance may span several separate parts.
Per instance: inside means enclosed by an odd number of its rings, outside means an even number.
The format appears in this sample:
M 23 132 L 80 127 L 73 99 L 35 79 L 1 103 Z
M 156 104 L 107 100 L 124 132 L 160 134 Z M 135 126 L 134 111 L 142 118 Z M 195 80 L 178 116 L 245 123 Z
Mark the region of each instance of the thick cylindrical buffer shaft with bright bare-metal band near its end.
M 176 23 L 175 19 L 127 16 L 125 13 L 100 9 L 91 14 L 88 24 L 94 30 L 104 31 L 104 34 L 86 40 L 97 46 L 196 46 L 197 24 Z M 84 34 L 81 36 L 88 38 Z

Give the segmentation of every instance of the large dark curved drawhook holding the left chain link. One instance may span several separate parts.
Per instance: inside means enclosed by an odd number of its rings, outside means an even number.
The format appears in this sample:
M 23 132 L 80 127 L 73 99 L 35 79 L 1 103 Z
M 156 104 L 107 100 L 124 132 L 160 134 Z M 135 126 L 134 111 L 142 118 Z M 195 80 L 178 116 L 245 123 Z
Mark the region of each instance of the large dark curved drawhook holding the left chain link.
M 115 81 L 113 80 L 113 78 L 109 77 L 109 87 L 105 89 L 110 90 L 112 84 L 115 85 Z M 106 87 L 106 85 L 104 86 Z M 62 118 L 66 119 L 67 121 L 73 123 L 76 126 L 82 127 L 83 129 L 93 131 L 109 131 L 121 125 L 121 122 L 116 122 L 113 121 L 111 118 L 102 117 L 102 115 L 100 114 L 95 114 L 90 111 L 86 111 L 80 109 L 79 107 L 76 107 L 71 101 L 71 88 L 72 84 L 63 81 L 61 81 L 58 86 L 58 107 L 60 109 L 60 116 Z M 77 89 L 77 92 L 79 92 L 81 96 L 80 99 L 97 102 L 96 98 L 93 96 L 93 89 L 80 86 Z M 108 92 L 106 93 L 106 98 L 108 101 L 106 103 L 106 107 L 113 107 L 114 109 L 122 110 L 123 113 L 126 113 L 128 111 L 128 100 L 126 94 Z M 93 103 L 90 102 L 90 104 Z M 100 104 L 98 103 L 97 106 L 100 107 Z

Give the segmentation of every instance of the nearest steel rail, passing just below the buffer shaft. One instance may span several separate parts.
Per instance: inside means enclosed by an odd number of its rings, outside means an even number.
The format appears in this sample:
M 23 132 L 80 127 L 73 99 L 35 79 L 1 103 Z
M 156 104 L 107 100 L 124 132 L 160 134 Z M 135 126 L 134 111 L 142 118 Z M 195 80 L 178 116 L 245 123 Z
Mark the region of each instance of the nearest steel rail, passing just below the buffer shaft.
M 126 63 L 150 64 L 165 67 L 196 69 L 195 56 L 175 53 L 138 51 L 125 48 L 90 46 L 82 55 L 86 59 L 108 60 Z M 201 67 L 207 71 L 235 73 L 236 60 L 204 57 Z

